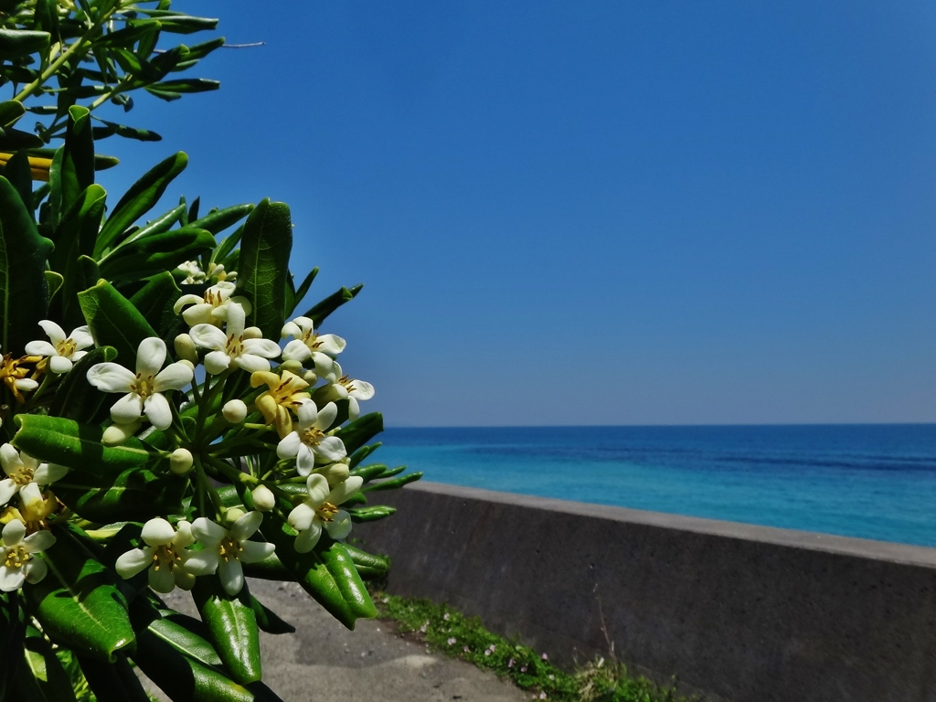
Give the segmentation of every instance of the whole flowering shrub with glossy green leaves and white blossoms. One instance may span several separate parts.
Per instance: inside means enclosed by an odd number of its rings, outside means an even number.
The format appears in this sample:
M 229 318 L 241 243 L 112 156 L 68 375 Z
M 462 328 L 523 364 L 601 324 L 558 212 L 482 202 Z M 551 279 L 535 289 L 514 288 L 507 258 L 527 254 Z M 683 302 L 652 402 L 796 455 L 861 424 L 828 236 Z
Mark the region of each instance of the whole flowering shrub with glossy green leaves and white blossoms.
M 374 490 L 419 477 L 363 465 L 374 389 L 319 331 L 360 286 L 297 314 L 316 271 L 288 270 L 285 204 L 154 216 L 182 153 L 110 206 L 95 183 L 95 139 L 158 139 L 97 108 L 216 87 L 167 76 L 223 39 L 160 39 L 214 21 L 143 5 L 0 0 L 0 702 L 145 700 L 130 661 L 173 699 L 276 699 L 258 630 L 282 622 L 245 576 L 373 617 L 387 563 L 346 540 L 392 514 Z M 160 599 L 176 588 L 200 622 Z

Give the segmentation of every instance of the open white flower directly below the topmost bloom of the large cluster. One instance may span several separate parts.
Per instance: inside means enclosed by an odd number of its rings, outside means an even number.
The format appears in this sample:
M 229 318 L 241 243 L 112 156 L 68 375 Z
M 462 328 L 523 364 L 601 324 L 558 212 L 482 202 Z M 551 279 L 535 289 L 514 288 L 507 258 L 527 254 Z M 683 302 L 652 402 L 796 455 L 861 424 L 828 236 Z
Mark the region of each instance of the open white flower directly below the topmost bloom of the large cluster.
M 192 341 L 213 349 L 205 356 L 205 370 L 212 375 L 222 373 L 233 363 L 248 373 L 269 371 L 270 361 L 280 355 L 280 347 L 269 339 L 251 339 L 251 330 L 243 328 L 246 312 L 243 305 L 227 305 L 227 332 L 211 324 L 197 324 L 192 328 Z M 248 332 L 248 333 L 245 333 Z

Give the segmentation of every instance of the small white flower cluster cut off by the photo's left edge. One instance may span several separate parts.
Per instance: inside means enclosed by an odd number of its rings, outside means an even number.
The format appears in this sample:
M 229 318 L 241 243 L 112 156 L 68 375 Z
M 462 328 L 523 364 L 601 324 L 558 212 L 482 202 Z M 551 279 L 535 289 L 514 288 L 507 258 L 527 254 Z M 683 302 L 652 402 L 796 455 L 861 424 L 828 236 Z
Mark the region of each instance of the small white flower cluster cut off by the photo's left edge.
M 5 522 L 0 544 L 0 591 L 12 592 L 22 588 L 23 582 L 45 578 L 47 566 L 38 554 L 55 543 L 46 518 L 58 503 L 43 488 L 64 477 L 68 469 L 40 463 L 11 444 L 0 446 L 0 465 L 7 474 L 0 480 L 0 505 L 7 505 L 0 515 L 0 521 Z M 15 504 L 11 504 L 13 498 L 17 498 Z

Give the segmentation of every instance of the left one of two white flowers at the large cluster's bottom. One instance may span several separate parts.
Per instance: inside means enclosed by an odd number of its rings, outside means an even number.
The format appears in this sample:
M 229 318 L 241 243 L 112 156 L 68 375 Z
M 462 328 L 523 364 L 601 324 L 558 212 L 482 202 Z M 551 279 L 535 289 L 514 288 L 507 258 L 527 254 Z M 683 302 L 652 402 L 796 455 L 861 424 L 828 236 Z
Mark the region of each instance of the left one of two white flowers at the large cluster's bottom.
M 191 590 L 195 576 L 185 568 L 189 557 L 185 547 L 195 543 L 195 536 L 192 535 L 192 525 L 187 521 L 180 521 L 176 526 L 178 532 L 166 519 L 159 517 L 143 524 L 140 536 L 146 546 L 131 548 L 121 554 L 114 563 L 117 574 L 121 578 L 133 578 L 150 566 L 150 587 L 156 592 L 172 592 L 177 585 L 183 590 Z

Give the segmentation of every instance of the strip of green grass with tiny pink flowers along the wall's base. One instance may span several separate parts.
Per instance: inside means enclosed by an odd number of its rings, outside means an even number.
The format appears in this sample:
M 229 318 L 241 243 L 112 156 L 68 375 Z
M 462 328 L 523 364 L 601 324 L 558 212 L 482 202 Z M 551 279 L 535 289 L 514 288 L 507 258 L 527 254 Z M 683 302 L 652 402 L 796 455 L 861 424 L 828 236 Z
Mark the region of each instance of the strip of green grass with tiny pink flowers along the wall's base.
M 689 702 L 671 688 L 631 675 L 616 661 L 596 658 L 569 673 L 549 662 L 546 653 L 490 633 L 476 617 L 430 600 L 374 595 L 381 619 L 396 622 L 433 649 L 493 670 L 534 699 L 559 702 Z M 696 698 L 697 700 L 697 698 Z

